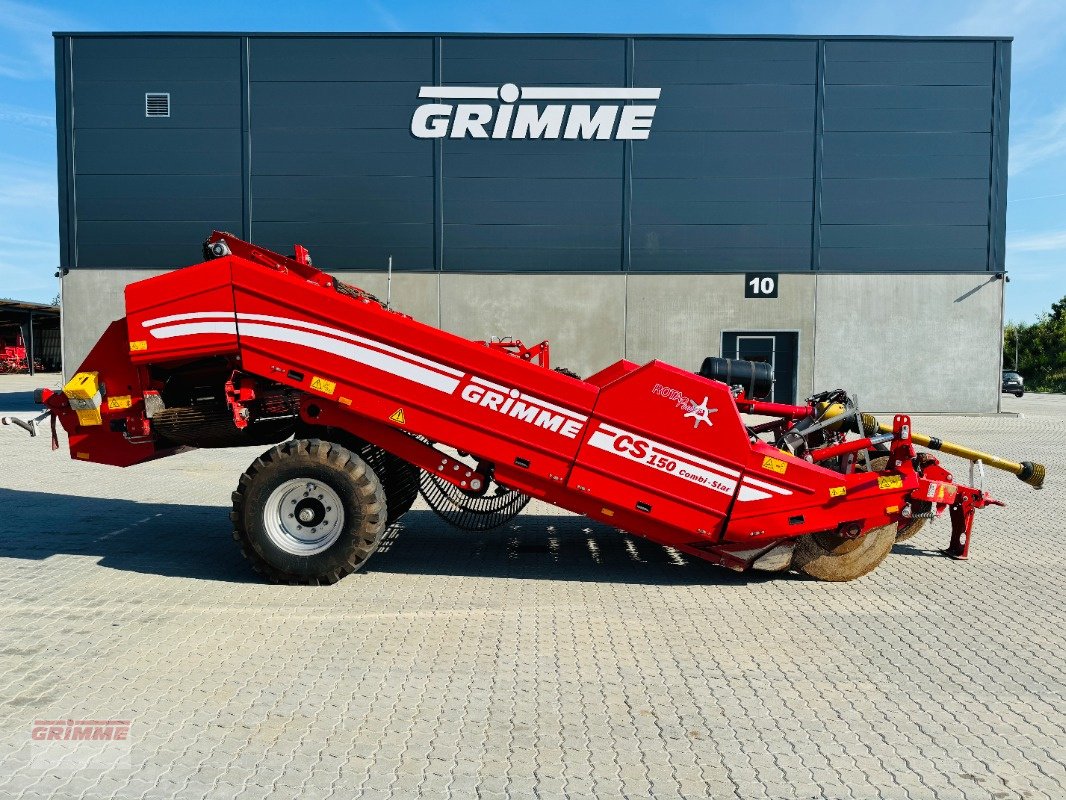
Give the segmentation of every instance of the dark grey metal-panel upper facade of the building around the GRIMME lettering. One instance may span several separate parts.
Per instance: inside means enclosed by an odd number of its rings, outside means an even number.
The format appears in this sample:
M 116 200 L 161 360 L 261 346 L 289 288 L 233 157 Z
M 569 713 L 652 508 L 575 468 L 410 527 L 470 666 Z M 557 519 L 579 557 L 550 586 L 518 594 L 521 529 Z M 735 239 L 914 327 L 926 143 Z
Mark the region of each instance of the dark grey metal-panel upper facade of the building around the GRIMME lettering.
M 56 34 L 63 266 L 999 273 L 1007 38 Z M 661 87 L 646 141 L 416 139 L 424 85 Z M 171 95 L 148 118 L 145 94 Z

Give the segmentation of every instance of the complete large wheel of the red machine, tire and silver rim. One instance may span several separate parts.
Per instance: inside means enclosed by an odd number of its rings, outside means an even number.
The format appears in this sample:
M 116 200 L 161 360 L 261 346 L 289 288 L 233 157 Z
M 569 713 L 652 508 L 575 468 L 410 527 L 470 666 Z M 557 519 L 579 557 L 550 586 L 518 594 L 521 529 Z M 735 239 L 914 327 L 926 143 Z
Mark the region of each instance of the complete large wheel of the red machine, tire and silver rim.
M 385 530 L 385 491 L 348 448 L 292 439 L 268 450 L 233 492 L 233 539 L 274 583 L 335 583 L 369 559 Z

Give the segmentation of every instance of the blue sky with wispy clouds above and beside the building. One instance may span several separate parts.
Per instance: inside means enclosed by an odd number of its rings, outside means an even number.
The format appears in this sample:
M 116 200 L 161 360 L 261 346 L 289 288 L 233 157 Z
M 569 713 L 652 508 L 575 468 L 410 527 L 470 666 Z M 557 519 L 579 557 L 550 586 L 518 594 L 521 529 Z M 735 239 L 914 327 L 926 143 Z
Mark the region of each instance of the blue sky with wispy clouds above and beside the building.
M 1013 35 L 1007 319 L 1066 295 L 1066 2 L 0 0 L 0 297 L 56 292 L 53 30 Z

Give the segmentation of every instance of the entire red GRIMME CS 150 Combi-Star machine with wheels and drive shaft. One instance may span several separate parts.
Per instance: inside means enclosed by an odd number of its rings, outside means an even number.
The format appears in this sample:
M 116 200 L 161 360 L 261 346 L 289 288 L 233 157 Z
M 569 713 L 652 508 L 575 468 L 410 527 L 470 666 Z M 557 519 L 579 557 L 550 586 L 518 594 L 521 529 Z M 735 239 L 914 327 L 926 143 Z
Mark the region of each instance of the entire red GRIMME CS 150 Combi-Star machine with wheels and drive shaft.
M 289 258 L 216 231 L 205 255 L 128 286 L 126 317 L 74 379 L 39 390 L 46 411 L 3 421 L 35 434 L 50 416 L 53 447 L 59 420 L 72 458 L 116 466 L 274 445 L 230 515 L 273 581 L 358 570 L 419 491 L 464 528 L 538 497 L 733 570 L 851 580 L 944 513 L 947 551 L 966 558 L 974 511 L 1002 505 L 916 444 L 1044 481 L 1039 464 L 919 436 L 905 415 L 878 425 L 843 390 L 764 402 L 766 365 L 620 361 L 580 380 L 550 368 L 547 342 L 422 324 L 298 245 Z

